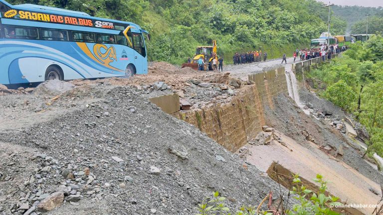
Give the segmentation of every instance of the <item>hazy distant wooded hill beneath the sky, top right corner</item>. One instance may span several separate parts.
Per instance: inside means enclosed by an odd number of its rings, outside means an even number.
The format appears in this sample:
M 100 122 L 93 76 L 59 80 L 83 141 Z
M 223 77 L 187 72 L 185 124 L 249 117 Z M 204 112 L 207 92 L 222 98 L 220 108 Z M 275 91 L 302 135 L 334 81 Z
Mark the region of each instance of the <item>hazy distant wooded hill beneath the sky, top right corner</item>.
M 340 6 L 332 7 L 336 16 L 344 18 L 347 23 L 347 32 L 352 34 L 365 34 L 367 16 L 369 16 L 369 33 L 383 32 L 383 7 Z

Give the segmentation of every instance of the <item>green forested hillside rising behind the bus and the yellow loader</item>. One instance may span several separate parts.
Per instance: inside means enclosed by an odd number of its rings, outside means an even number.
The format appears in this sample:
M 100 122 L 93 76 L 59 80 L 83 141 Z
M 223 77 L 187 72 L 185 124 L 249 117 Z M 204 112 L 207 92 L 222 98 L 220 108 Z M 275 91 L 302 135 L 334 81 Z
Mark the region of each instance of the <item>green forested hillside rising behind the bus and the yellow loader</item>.
M 181 64 L 198 45 L 217 40 L 218 55 L 262 49 L 270 58 L 305 48 L 327 31 L 328 10 L 316 0 L 9 0 L 132 21 L 150 31 L 152 61 Z M 347 23 L 332 17 L 332 32 Z

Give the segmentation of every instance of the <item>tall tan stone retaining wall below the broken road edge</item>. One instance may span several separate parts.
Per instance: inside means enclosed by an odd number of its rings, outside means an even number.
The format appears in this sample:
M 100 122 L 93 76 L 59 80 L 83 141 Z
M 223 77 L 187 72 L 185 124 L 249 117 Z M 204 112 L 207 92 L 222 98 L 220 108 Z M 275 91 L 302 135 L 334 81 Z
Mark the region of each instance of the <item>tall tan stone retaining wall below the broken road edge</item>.
M 266 124 L 264 107 L 273 107 L 272 99 L 280 93 L 287 93 L 284 67 L 264 73 L 249 75 L 255 84 L 245 86 L 228 104 L 174 113 L 203 133 L 235 151 L 251 141 Z

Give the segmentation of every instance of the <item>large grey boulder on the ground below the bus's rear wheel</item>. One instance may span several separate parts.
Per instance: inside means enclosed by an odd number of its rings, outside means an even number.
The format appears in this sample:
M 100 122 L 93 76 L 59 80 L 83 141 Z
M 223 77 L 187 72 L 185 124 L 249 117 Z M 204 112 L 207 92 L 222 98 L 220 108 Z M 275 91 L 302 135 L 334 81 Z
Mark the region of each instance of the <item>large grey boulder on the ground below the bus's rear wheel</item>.
M 33 94 L 37 96 L 57 96 L 72 90 L 74 85 L 58 79 L 45 81 L 34 89 Z

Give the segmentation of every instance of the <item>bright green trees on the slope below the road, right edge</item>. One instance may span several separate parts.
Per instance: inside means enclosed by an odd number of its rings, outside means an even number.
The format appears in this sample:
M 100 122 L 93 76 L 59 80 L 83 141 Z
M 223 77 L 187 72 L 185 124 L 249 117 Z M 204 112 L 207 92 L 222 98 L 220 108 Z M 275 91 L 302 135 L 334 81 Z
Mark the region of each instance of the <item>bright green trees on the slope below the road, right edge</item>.
M 353 113 L 368 131 L 367 154 L 383 156 L 383 37 L 352 44 L 342 57 L 307 73 L 326 87 L 318 95 Z

